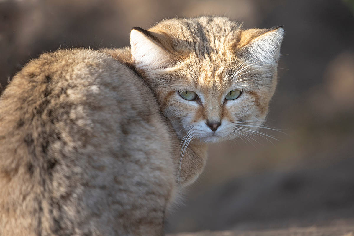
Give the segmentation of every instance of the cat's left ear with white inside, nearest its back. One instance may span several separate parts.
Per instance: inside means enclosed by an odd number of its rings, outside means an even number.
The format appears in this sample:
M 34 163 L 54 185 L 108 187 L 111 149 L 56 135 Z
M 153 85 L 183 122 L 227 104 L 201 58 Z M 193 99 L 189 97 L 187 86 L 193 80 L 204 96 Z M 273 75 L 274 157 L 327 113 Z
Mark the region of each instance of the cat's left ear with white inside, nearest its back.
M 134 27 L 130 32 L 130 46 L 137 68 L 151 71 L 173 65 L 172 54 L 166 51 L 154 33 L 148 30 Z

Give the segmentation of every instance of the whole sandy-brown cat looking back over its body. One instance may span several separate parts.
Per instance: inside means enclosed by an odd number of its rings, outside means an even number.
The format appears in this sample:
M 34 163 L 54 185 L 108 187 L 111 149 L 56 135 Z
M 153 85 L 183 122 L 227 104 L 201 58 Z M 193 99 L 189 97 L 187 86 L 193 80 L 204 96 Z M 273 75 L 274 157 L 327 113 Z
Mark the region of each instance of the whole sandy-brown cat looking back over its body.
M 175 18 L 30 61 L 0 99 L 0 235 L 163 235 L 207 144 L 262 123 L 283 34 Z

